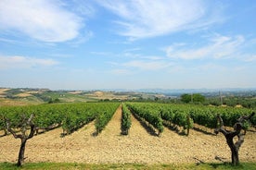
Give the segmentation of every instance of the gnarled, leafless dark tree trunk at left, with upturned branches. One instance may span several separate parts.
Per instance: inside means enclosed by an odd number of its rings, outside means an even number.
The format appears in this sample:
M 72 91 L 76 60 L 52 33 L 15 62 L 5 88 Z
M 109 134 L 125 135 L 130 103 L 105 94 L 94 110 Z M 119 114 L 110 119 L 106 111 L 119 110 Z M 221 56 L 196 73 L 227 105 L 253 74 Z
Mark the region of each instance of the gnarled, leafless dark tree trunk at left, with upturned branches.
M 26 142 L 29 139 L 32 139 L 33 134 L 35 132 L 35 126 L 32 122 L 32 118 L 33 118 L 33 114 L 28 118 L 26 117 L 26 115 L 21 115 L 21 121 L 19 124 L 19 128 L 20 128 L 20 132 L 18 134 L 18 132 L 14 131 L 11 127 L 11 123 L 8 119 L 6 119 L 6 128 L 7 130 L 13 135 L 13 137 L 15 139 L 20 139 L 21 143 L 20 143 L 20 148 L 19 148 L 19 157 L 18 157 L 18 166 L 21 166 L 24 162 L 24 153 L 25 153 L 25 147 L 26 147 Z M 27 128 L 30 127 L 30 133 L 29 135 L 26 134 Z

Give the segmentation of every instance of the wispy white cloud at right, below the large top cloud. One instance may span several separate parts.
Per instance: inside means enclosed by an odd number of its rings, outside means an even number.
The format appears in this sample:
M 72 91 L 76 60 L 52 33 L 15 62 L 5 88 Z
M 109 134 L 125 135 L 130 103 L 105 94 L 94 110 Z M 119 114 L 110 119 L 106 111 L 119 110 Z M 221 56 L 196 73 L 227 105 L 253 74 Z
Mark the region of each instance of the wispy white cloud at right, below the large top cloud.
M 245 42 L 243 36 L 227 37 L 217 35 L 208 40 L 208 44 L 192 47 L 186 43 L 173 44 L 166 48 L 166 54 L 171 58 L 229 58 L 237 56 L 238 49 Z

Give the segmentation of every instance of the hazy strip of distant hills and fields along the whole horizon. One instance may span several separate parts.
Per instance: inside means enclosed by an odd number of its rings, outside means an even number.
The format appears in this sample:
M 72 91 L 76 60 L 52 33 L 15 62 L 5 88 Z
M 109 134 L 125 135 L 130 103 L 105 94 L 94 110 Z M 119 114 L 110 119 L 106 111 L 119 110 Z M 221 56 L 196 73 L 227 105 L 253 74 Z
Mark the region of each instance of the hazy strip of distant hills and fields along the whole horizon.
M 141 90 L 97 90 L 97 91 L 51 91 L 49 89 L 30 88 L 0 88 L 0 105 L 24 105 L 40 103 L 78 103 L 97 101 L 142 101 L 179 99 L 184 93 L 201 93 L 209 98 L 209 103 L 220 102 L 220 97 L 225 103 L 230 101 L 241 103 L 244 98 L 256 99 L 256 89 L 141 89 Z M 237 98 L 238 97 L 238 98 Z M 233 98 L 233 99 L 232 99 Z M 213 101 L 212 101 L 213 100 Z M 254 103 L 253 103 L 254 105 Z

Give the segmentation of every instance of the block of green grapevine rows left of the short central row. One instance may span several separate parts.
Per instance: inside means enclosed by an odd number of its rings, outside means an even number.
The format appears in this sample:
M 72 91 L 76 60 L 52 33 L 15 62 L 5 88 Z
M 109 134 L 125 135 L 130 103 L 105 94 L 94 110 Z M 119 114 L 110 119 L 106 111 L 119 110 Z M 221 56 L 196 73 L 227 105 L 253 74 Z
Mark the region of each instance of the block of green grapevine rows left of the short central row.
M 108 117 L 115 112 L 120 103 L 55 103 L 30 106 L 0 107 L 0 130 L 6 131 L 6 120 L 11 128 L 19 128 L 20 118 L 34 114 L 33 123 L 37 129 L 51 129 L 61 126 L 65 134 L 83 127 L 96 117 Z M 97 119 L 98 120 L 98 119 Z M 99 121 L 96 121 L 99 122 Z M 101 121 L 100 121 L 101 122 Z M 106 124 L 105 121 L 104 124 Z M 100 127 L 97 125 L 97 127 Z M 104 126 L 102 126 L 104 127 Z M 98 130 L 98 128 L 96 128 Z

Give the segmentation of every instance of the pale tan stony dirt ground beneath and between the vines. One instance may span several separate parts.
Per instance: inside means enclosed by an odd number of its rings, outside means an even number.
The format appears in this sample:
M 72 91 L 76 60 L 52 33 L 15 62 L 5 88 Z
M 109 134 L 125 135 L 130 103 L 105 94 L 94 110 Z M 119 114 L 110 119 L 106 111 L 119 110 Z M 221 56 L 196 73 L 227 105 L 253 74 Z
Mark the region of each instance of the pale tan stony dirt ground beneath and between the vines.
M 122 108 L 119 107 L 108 126 L 98 135 L 94 122 L 60 138 L 61 128 L 28 140 L 25 162 L 69 162 L 93 164 L 170 164 L 230 162 L 230 151 L 224 136 L 206 135 L 191 130 L 188 137 L 164 128 L 160 137 L 150 134 L 134 116 L 128 136 L 121 135 Z M 240 148 L 242 162 L 256 162 L 256 134 L 248 132 Z M 20 140 L 11 135 L 0 138 L 0 162 L 16 162 Z

